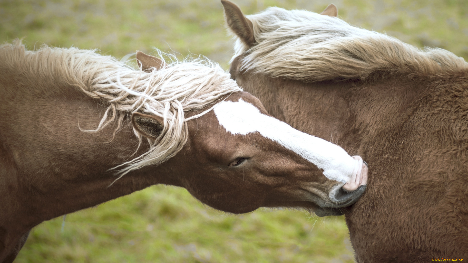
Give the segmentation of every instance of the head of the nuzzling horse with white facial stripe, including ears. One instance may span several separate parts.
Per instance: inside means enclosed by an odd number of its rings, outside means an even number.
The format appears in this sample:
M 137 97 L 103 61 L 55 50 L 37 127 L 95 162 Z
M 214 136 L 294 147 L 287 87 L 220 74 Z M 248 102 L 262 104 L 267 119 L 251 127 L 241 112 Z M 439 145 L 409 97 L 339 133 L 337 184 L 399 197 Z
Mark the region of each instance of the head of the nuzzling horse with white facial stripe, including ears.
M 146 57 L 139 65 L 157 70 L 162 63 Z M 200 111 L 206 110 L 188 117 L 187 144 L 161 165 L 207 205 L 233 213 L 281 206 L 341 215 L 338 208 L 352 205 L 366 189 L 361 157 L 271 117 L 247 92 L 225 95 Z M 163 119 L 135 112 L 132 125 L 151 140 L 160 136 Z

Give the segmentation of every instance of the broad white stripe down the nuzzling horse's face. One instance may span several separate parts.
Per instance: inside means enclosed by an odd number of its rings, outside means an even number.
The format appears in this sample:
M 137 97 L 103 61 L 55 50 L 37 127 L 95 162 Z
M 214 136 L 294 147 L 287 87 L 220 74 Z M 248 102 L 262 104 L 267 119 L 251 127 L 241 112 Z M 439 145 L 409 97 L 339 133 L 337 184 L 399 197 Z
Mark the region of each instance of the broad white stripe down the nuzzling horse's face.
M 213 110 L 219 124 L 232 134 L 246 135 L 258 131 L 263 137 L 323 169 L 323 175 L 330 180 L 346 183 L 353 175 L 356 160 L 343 148 L 262 114 L 258 108 L 242 99 L 238 102 L 219 102 Z

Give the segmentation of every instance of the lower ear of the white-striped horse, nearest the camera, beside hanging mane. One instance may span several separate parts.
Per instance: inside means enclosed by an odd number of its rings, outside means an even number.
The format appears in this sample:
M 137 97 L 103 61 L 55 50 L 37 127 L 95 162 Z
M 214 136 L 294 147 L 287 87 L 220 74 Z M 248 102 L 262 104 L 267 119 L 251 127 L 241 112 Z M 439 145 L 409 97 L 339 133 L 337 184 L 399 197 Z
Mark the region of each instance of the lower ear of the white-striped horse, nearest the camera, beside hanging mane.
M 150 139 L 157 138 L 164 128 L 163 119 L 161 117 L 146 115 L 139 112 L 133 112 L 132 125 L 135 130 Z

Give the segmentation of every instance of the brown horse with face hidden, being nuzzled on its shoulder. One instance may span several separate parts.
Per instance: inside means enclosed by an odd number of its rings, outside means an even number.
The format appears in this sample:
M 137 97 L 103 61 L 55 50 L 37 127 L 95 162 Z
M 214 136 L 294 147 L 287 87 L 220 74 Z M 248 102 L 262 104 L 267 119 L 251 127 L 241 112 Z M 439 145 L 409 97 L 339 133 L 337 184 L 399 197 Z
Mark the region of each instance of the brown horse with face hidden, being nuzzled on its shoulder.
M 292 127 L 369 161 L 346 211 L 359 263 L 468 259 L 468 64 L 322 14 L 222 1 L 231 75 Z

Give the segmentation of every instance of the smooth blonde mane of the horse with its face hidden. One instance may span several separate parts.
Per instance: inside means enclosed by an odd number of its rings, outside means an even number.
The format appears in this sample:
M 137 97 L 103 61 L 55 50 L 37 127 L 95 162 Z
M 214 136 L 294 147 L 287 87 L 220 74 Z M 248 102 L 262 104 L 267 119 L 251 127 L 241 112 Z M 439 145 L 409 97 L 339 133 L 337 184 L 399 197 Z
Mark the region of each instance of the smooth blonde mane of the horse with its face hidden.
M 423 51 L 328 15 L 269 7 L 246 16 L 256 44 L 239 38 L 240 70 L 305 82 L 368 79 L 374 73 L 434 75 L 467 69 L 463 58 L 439 48 Z

